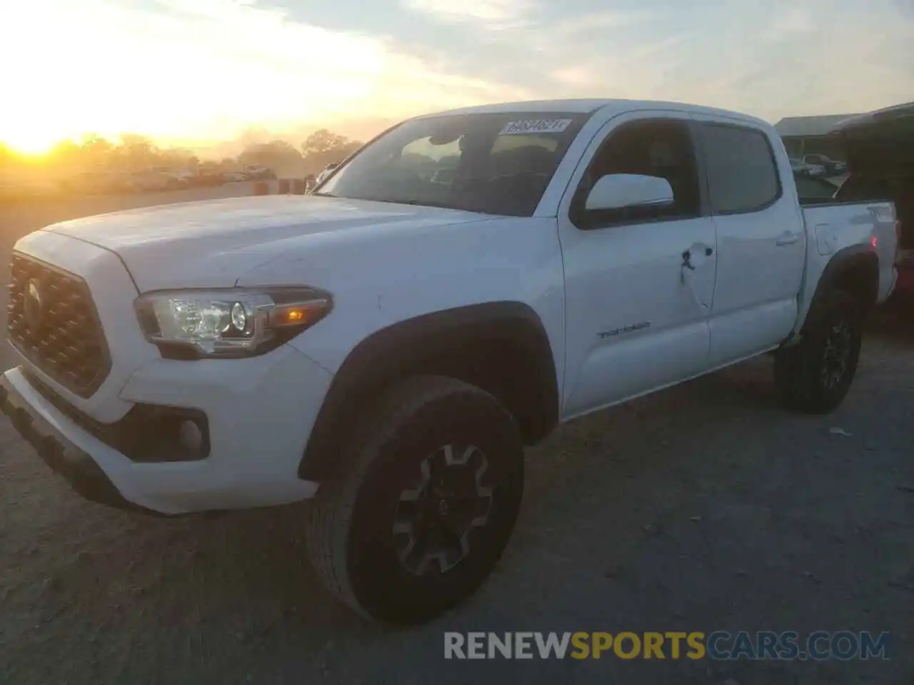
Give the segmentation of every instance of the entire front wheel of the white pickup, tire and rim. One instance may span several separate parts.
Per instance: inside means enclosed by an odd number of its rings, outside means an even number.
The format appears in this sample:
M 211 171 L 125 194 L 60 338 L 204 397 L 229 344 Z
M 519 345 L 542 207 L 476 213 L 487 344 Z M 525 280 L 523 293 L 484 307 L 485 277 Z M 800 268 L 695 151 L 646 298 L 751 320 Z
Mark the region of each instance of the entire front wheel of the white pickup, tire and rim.
M 381 398 L 314 501 L 308 550 L 359 613 L 416 623 L 482 585 L 514 528 L 520 434 L 492 395 L 411 379 Z

